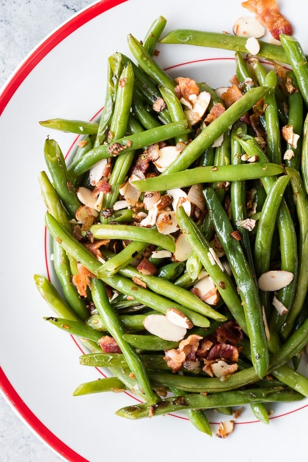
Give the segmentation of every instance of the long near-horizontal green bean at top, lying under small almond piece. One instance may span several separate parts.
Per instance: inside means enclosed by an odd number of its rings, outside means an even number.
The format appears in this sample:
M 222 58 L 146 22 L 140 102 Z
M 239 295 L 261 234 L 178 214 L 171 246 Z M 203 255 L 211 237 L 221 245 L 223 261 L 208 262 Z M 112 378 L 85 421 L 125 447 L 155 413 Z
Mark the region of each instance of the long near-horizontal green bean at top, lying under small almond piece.
M 191 29 L 172 30 L 160 40 L 160 43 L 181 43 L 183 45 L 222 48 L 224 50 L 239 51 L 241 53 L 247 53 L 246 42 L 247 39 L 245 37 Z M 260 44 L 258 56 L 272 61 L 290 64 L 290 60 L 281 46 L 263 42 L 262 40 L 258 40 L 258 42 Z

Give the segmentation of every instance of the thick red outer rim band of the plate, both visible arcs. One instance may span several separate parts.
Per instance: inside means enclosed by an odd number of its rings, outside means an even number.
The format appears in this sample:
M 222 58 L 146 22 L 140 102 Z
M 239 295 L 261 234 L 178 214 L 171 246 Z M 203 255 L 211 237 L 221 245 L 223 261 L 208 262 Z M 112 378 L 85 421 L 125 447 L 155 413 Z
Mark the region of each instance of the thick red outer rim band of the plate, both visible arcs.
M 17 89 L 29 75 L 29 73 L 40 63 L 42 59 L 59 43 L 65 40 L 71 33 L 79 29 L 88 21 L 94 19 L 105 11 L 126 2 L 127 0 L 101 0 L 85 10 L 81 11 L 71 20 L 63 24 L 59 29 L 53 32 L 35 48 L 30 56 L 21 64 L 15 71 L 10 81 L 5 86 L 2 95 L 0 96 L 0 116 L 14 96 Z M 35 414 L 28 408 L 22 397 L 18 395 L 8 377 L 0 367 L 0 387 L 12 404 L 13 408 L 20 416 L 29 424 L 29 426 L 60 456 L 73 462 L 89 462 L 80 454 L 76 453 L 67 446 L 61 439 L 57 438 L 45 425 L 38 419 Z

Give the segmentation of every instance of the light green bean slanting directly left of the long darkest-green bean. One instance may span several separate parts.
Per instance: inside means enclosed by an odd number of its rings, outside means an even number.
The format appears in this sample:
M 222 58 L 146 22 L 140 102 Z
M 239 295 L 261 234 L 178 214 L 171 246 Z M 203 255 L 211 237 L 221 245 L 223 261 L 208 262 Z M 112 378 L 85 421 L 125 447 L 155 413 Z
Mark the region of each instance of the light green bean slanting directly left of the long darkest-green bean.
M 205 270 L 208 272 L 210 278 L 213 280 L 225 304 L 233 314 L 235 320 L 241 326 L 244 332 L 246 330 L 246 321 L 243 313 L 240 298 L 237 290 L 229 278 L 228 274 L 218 263 L 213 263 L 209 255 L 210 245 L 200 233 L 200 230 L 195 225 L 184 211 L 183 207 L 177 210 L 177 218 L 181 231 L 185 235 L 186 241 L 190 244 L 191 248 L 198 254 Z

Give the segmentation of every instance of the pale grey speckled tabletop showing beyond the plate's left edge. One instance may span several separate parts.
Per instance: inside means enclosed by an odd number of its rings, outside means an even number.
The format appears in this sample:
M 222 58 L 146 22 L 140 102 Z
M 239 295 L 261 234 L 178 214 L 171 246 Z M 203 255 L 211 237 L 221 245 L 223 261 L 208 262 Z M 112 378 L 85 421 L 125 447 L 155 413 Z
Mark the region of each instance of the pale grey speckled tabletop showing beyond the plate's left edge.
M 0 87 L 46 35 L 92 0 L 0 0 Z M 0 394 L 1 462 L 59 462 Z

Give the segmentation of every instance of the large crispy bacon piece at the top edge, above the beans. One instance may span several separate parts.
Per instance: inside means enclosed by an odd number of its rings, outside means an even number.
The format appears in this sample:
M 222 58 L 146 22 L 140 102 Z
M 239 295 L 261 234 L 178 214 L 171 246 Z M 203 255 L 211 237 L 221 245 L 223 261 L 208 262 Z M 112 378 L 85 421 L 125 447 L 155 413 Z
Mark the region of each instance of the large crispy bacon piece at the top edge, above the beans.
M 279 34 L 293 34 L 293 27 L 286 17 L 280 13 L 276 0 L 247 0 L 242 2 L 246 8 L 269 32 L 279 40 Z

